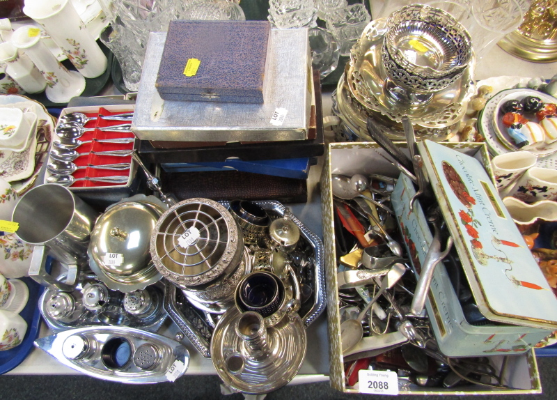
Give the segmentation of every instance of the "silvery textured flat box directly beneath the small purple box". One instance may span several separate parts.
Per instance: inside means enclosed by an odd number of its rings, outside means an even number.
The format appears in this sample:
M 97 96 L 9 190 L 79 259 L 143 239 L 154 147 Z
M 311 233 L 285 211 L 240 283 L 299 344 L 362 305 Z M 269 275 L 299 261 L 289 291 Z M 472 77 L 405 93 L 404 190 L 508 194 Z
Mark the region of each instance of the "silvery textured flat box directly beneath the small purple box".
M 162 100 L 155 88 L 166 33 L 151 33 L 132 130 L 155 141 L 308 139 L 313 79 L 308 29 L 272 29 L 263 104 Z

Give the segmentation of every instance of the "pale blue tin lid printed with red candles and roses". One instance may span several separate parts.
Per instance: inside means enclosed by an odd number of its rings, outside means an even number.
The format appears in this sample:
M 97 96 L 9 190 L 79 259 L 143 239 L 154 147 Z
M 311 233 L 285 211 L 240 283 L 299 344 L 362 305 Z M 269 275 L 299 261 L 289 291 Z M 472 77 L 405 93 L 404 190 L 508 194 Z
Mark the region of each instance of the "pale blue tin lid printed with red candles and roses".
M 478 160 L 418 144 L 480 312 L 490 321 L 557 328 L 557 298 Z

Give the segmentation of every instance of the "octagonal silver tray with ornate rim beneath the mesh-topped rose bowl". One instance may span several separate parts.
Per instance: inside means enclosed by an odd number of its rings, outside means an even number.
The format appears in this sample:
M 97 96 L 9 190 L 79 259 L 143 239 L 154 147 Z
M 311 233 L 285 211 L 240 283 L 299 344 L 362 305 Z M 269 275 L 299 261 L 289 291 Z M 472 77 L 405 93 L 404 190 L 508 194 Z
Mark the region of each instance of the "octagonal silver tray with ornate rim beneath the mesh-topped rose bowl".
M 220 203 L 226 208 L 229 206 L 228 201 L 220 201 Z M 313 304 L 311 304 L 311 307 L 302 305 L 298 311 L 304 322 L 304 326 L 307 328 L 320 316 L 327 305 L 327 300 L 325 298 L 324 249 L 322 240 L 298 220 L 288 208 L 278 201 L 265 200 L 254 201 L 254 203 L 264 208 L 271 218 L 290 218 L 290 220 L 295 222 L 299 227 L 301 237 L 313 248 L 315 268 L 311 271 L 313 272 L 312 279 L 308 281 L 308 284 L 310 284 L 313 289 Z M 201 355 L 210 358 L 210 342 L 214 323 L 216 323 L 216 321 L 212 319 L 214 314 L 204 313 L 196 309 L 185 296 L 182 295 L 182 292 L 177 290 L 176 286 L 168 282 L 166 283 L 166 290 L 164 293 L 164 309 L 166 309 L 172 321 L 184 332 Z M 203 314 L 205 314 L 204 317 Z M 216 317 L 217 316 L 215 316 L 215 318 Z

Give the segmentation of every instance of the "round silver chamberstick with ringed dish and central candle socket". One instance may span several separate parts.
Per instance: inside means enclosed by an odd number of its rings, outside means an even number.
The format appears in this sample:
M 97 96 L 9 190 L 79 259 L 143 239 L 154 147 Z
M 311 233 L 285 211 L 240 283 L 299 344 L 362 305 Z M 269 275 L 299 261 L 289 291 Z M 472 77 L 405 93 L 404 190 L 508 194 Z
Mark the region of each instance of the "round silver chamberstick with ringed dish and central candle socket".
M 226 385 L 248 394 L 263 394 L 286 385 L 306 355 L 304 323 L 297 314 L 265 327 L 253 311 L 229 309 L 214 329 L 211 354 Z

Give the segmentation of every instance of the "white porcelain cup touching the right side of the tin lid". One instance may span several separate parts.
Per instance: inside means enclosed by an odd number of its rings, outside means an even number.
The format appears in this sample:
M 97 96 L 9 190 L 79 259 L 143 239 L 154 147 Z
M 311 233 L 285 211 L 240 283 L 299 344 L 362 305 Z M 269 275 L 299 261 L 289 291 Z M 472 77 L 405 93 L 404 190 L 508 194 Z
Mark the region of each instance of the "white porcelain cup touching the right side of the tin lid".
M 538 157 L 529 151 L 514 151 L 493 157 L 492 169 L 499 193 L 512 189 L 517 179 L 537 161 Z

